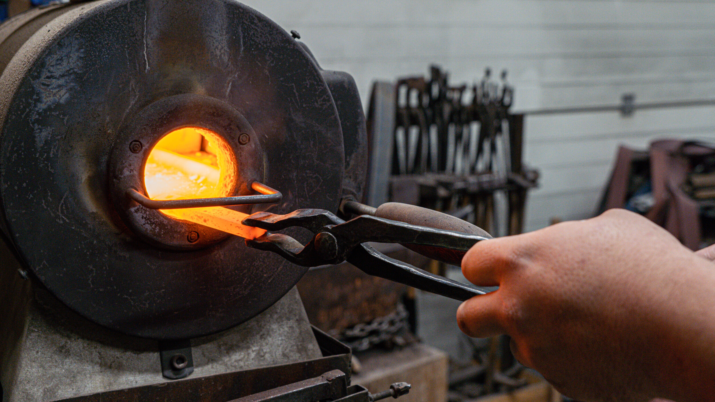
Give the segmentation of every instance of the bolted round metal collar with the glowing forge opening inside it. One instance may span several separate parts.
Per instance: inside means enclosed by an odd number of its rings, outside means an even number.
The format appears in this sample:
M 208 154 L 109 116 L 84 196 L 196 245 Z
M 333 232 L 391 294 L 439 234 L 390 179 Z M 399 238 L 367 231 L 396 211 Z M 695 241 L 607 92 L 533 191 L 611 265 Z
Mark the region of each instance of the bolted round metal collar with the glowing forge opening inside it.
M 248 141 L 241 141 L 242 134 Z M 208 96 L 179 94 L 150 104 L 122 128 L 112 150 L 112 201 L 119 218 L 159 248 L 189 251 L 220 242 L 229 247 L 233 241 L 225 241 L 233 232 L 224 226 L 237 226 L 242 218 L 224 215 L 252 213 L 253 205 L 157 210 L 141 206 L 127 191 L 155 200 L 253 194 L 252 182 L 262 181 L 265 172 L 256 139 L 236 109 Z M 217 228 L 216 222 L 225 225 Z

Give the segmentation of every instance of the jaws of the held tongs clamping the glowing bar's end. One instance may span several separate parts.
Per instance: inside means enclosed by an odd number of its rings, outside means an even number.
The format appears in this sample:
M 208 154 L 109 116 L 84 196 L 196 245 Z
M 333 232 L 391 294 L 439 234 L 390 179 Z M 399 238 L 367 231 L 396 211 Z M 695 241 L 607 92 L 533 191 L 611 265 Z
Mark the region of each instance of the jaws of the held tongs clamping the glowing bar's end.
M 298 209 L 285 215 L 270 212 L 257 212 L 245 218 L 241 223 L 267 231 L 280 231 L 291 226 L 307 228 L 313 233 L 320 232 L 325 226 L 344 223 L 335 214 L 322 209 Z M 329 233 L 326 233 L 329 234 Z M 330 241 L 325 236 L 317 236 L 306 246 L 300 241 L 281 233 L 265 233 L 263 236 L 246 239 L 246 245 L 264 251 L 273 251 L 288 261 L 300 266 L 320 266 L 327 263 L 338 263 L 337 255 L 325 255 L 315 248 L 315 242 Z M 321 248 L 322 249 L 322 248 Z

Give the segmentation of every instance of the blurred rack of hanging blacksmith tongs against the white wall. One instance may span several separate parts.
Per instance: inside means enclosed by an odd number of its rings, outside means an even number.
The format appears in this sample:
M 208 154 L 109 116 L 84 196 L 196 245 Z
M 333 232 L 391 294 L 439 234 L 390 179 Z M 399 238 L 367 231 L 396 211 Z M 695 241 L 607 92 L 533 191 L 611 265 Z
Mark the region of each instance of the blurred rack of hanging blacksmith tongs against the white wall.
M 514 89 L 506 77 L 503 71 L 501 80 L 493 79 L 485 69 L 473 85 L 453 86 L 446 71 L 431 66 L 429 78 L 375 82 L 367 118 L 366 203 L 432 208 L 495 237 L 521 233 L 538 171 L 523 164 L 524 115 L 511 113 Z M 431 264 L 428 271 L 445 275 L 445 264 Z M 453 365 L 450 400 L 525 385 L 506 336 L 465 341 L 472 364 Z

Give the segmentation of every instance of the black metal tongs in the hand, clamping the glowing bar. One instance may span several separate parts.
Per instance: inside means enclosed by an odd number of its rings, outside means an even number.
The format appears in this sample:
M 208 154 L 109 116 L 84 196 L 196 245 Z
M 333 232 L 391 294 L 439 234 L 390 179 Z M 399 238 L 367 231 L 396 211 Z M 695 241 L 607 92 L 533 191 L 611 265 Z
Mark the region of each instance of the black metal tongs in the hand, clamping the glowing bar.
M 365 215 L 345 223 L 329 211 L 322 209 L 299 209 L 285 215 L 257 212 L 245 218 L 242 223 L 269 231 L 258 238 L 246 239 L 247 246 L 273 251 L 300 266 L 320 266 L 347 261 L 370 275 L 405 283 L 456 300 L 464 301 L 486 293 L 483 288 L 452 281 L 385 256 L 365 243 L 367 241 L 407 242 L 427 246 L 449 246 L 466 251 L 476 241 L 485 240 L 483 236 L 425 228 Z M 307 228 L 316 235 L 310 243 L 303 246 L 295 238 L 285 234 L 270 233 L 290 226 Z

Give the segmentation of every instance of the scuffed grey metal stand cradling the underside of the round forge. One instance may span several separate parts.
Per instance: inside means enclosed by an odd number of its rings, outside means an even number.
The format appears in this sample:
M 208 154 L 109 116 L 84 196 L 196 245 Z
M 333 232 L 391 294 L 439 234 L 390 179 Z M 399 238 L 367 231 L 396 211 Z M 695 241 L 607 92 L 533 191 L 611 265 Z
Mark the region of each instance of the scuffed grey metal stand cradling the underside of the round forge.
M 199 390 L 196 401 L 228 401 L 241 395 L 210 398 L 222 395 L 222 387 L 230 381 L 238 381 L 220 376 L 223 373 L 322 357 L 321 344 L 316 341 L 320 334 L 311 331 L 295 289 L 240 326 L 192 339 L 194 372 L 176 381 L 162 376 L 159 342 L 102 328 L 61 306 L 47 291 L 38 288 L 35 293 L 19 325 L 26 331 L 15 345 L 4 348 L 14 353 L 1 362 L 7 402 L 56 401 L 137 387 L 137 391 L 118 391 L 116 398 L 109 393 L 111 398 L 89 401 L 194 401 L 178 393 L 189 393 L 189 386 Z M 144 394 L 142 389 L 154 393 Z M 147 398 L 129 398 L 132 395 Z

